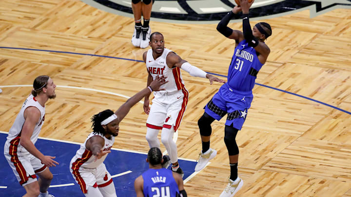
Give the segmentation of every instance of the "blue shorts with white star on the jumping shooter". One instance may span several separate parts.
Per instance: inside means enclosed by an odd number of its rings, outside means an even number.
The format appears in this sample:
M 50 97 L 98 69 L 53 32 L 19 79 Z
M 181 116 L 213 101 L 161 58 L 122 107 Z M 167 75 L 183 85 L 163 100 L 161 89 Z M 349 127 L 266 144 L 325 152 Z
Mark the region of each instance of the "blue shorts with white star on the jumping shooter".
M 223 84 L 205 106 L 205 112 L 217 121 L 228 114 L 225 125 L 233 125 L 234 128 L 240 130 L 246 120 L 252 100 L 252 91 L 237 91 Z

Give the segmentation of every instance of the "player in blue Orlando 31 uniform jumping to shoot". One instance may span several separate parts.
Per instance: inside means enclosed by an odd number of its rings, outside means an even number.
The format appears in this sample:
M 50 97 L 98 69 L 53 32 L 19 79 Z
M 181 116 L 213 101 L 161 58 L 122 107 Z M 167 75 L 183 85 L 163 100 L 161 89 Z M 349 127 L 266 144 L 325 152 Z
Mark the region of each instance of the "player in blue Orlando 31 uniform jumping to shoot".
M 203 169 L 217 154 L 216 150 L 210 148 L 211 123 L 215 120 L 219 121 L 228 114 L 224 129 L 224 143 L 229 154 L 231 174 L 229 183 L 220 197 L 233 197 L 243 185 L 242 179 L 237 176 L 239 148 L 235 137 L 251 107 L 256 75 L 270 54 L 270 49 L 264 41 L 272 35 L 271 26 L 268 23 L 259 22 L 251 29 L 249 8 L 253 3 L 253 1 L 249 3 L 248 0 L 241 0 L 240 6 L 235 6 L 217 25 L 219 33 L 235 40 L 235 51 L 229 66 L 228 83 L 222 85 L 198 120 L 202 151 L 195 171 Z M 227 27 L 229 21 L 240 11 L 243 13 L 243 32 Z

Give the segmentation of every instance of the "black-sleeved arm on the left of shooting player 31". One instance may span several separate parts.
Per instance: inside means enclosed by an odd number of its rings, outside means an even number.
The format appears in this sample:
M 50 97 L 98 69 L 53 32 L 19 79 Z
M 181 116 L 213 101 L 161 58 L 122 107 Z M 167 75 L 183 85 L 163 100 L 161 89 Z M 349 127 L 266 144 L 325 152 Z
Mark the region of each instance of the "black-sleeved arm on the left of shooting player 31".
M 235 6 L 233 10 L 228 12 L 228 14 L 224 16 L 217 25 L 217 31 L 221 33 L 223 36 L 226 36 L 230 39 L 234 39 L 236 41 L 236 44 L 238 44 L 244 39 L 243 33 L 238 30 L 233 30 L 229 28 L 227 25 L 229 21 L 233 19 L 240 11 L 241 11 L 241 7 Z

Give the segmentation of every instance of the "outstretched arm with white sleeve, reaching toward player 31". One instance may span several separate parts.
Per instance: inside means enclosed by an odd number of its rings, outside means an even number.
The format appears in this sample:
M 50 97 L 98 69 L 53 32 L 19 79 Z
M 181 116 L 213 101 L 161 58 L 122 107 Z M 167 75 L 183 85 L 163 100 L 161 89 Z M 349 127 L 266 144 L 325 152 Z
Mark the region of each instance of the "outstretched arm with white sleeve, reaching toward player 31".
M 219 79 L 211 74 L 208 74 L 195 66 L 192 66 L 189 62 L 182 59 L 179 55 L 175 53 L 169 53 L 167 55 L 167 66 L 169 68 L 179 67 L 182 70 L 188 72 L 192 76 L 207 78 L 210 80 L 210 84 L 212 84 L 214 81 L 225 83 L 224 80 Z

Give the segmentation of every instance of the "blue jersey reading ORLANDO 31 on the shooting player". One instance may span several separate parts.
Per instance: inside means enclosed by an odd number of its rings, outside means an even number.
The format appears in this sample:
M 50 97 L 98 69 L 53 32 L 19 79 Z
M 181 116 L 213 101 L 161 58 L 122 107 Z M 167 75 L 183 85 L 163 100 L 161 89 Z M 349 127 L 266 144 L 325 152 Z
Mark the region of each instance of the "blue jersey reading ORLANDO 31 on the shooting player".
M 256 50 L 250 47 L 246 40 L 241 41 L 232 57 L 228 70 L 228 85 L 234 90 L 251 91 L 258 71 L 262 67 Z

